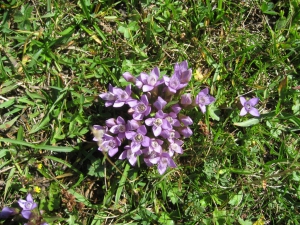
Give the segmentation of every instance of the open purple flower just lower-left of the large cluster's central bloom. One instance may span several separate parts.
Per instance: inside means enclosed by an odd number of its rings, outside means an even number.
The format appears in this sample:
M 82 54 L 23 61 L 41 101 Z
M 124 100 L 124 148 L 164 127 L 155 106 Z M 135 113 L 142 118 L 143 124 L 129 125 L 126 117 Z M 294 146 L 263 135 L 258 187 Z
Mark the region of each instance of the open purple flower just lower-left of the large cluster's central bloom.
M 145 125 L 140 126 L 136 132 L 135 131 L 128 131 L 125 133 L 126 138 L 131 140 L 131 151 L 137 152 L 143 147 L 149 147 L 150 145 L 150 138 L 145 136 L 147 134 L 147 129 Z

